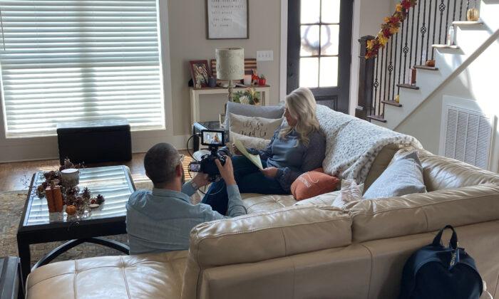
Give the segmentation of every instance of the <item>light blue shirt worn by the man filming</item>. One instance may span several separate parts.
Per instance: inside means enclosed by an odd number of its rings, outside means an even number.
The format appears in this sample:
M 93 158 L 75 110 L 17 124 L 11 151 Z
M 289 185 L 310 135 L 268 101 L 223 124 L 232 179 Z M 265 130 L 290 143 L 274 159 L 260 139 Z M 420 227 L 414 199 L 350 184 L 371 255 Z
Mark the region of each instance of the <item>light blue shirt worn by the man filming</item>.
M 138 190 L 126 204 L 126 231 L 130 254 L 158 253 L 189 248 L 190 230 L 197 224 L 247 213 L 237 185 L 227 186 L 227 215 L 207 204 L 191 204 L 194 194 L 190 182 L 182 193 L 167 189 Z

